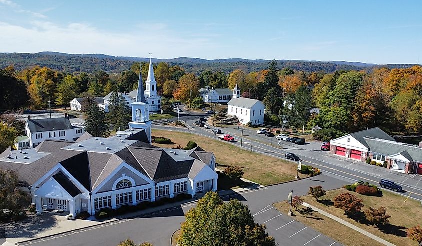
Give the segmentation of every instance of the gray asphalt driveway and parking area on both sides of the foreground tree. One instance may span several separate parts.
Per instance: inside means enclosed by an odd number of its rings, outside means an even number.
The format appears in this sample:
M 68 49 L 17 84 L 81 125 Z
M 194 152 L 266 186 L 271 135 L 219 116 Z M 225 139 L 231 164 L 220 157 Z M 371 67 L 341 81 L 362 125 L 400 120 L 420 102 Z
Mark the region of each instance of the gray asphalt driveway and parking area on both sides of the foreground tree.
M 240 193 L 223 195 L 226 201 L 238 199 L 247 204 L 251 213 L 259 223 L 265 223 L 267 230 L 280 245 L 297 246 L 329 246 L 341 245 L 334 240 L 320 235 L 317 231 L 306 228 L 287 215 L 280 213 L 271 204 L 287 199 L 288 193 L 293 190 L 294 195 L 305 195 L 310 186 L 323 185 L 325 189 L 335 189 L 344 185 L 345 182 L 331 175 L 319 175 L 315 178 L 298 180 L 295 182 L 263 187 L 256 190 L 249 190 Z M 183 207 L 182 207 L 183 206 Z M 123 219 L 114 224 L 95 226 L 90 230 L 75 230 L 74 232 L 57 235 L 54 238 L 48 237 L 43 240 L 34 240 L 23 245 L 28 246 L 115 246 L 121 240 L 130 238 L 136 243 L 149 241 L 155 246 L 170 245 L 170 237 L 174 231 L 180 228 L 184 221 L 184 214 L 195 203 L 182 205 L 168 212 L 156 213 L 147 217 Z M 163 210 L 162 210 L 163 211 Z M 277 216 L 277 217 L 275 217 Z M 289 224 L 287 224 L 289 223 Z M 296 234 L 295 234 L 296 233 Z M 290 237 L 292 234 L 292 237 Z M 319 235 L 318 237 L 316 237 Z M 315 239 L 313 239 L 316 237 Z M 334 243 L 334 244 L 333 244 Z

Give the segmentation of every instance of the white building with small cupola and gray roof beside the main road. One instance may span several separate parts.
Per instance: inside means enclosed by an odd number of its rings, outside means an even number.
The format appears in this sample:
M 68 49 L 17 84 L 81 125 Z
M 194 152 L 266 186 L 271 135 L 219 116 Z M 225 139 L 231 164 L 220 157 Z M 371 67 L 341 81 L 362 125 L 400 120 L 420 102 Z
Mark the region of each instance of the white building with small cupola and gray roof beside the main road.
M 227 114 L 236 116 L 243 125 L 263 124 L 265 105 L 256 99 L 240 97 L 237 84 L 233 89 L 232 99 L 227 103 Z

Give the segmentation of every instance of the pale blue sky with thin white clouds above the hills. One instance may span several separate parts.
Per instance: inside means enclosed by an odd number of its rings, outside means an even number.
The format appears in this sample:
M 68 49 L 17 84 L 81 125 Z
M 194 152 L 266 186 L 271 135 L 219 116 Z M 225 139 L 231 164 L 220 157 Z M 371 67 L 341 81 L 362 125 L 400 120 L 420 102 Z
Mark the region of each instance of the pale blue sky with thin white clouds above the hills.
M 421 12 L 421 0 L 0 0 L 0 52 L 417 63 Z

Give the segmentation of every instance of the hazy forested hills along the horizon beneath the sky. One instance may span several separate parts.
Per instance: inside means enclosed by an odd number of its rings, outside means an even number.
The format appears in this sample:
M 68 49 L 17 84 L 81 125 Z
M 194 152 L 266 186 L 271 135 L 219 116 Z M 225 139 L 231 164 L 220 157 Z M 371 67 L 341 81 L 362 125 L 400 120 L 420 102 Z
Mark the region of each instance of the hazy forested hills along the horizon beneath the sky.
M 15 69 L 23 69 L 30 66 L 47 66 L 52 69 L 72 73 L 88 72 L 102 69 L 107 72 L 120 73 L 127 70 L 134 62 L 147 62 L 147 57 L 111 56 L 104 54 L 66 54 L 58 52 L 31 53 L 0 53 L 0 68 L 13 65 Z M 172 59 L 155 59 L 156 62 L 167 62 L 169 65 L 179 65 L 186 72 L 200 74 L 205 70 L 221 71 L 230 73 L 235 69 L 245 72 L 266 69 L 269 60 L 248 60 L 241 58 L 206 60 L 200 58 L 179 57 Z M 404 68 L 412 64 L 388 64 L 376 65 L 362 62 L 347 61 L 301 61 L 279 60 L 279 68 L 291 67 L 296 71 L 306 72 L 335 72 L 338 70 L 371 70 L 374 67 Z

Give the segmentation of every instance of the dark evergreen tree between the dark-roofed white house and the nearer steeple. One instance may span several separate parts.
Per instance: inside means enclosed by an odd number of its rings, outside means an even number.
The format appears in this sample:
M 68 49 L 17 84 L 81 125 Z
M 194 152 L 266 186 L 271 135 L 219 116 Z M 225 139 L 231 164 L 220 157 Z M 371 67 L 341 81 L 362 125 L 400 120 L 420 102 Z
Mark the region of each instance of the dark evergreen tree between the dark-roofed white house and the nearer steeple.
M 94 100 L 90 100 L 88 106 L 88 115 L 85 121 L 85 131 L 89 132 L 94 137 L 108 137 L 110 131 L 108 128 L 108 121 L 106 120 L 105 113 L 98 107 Z

